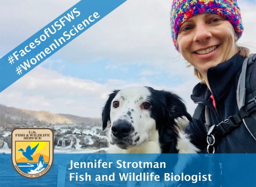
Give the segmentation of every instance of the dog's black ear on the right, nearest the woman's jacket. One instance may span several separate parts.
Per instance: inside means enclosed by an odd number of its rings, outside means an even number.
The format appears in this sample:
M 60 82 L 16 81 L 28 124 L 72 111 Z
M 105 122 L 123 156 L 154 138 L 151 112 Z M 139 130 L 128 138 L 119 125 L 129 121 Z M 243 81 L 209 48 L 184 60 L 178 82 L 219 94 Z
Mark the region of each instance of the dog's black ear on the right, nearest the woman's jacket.
M 174 119 L 177 119 L 178 117 L 183 118 L 183 116 L 186 116 L 190 122 L 193 121 L 191 115 L 187 112 L 184 101 L 178 95 L 173 94 L 172 92 L 167 92 L 165 97 L 169 112 Z

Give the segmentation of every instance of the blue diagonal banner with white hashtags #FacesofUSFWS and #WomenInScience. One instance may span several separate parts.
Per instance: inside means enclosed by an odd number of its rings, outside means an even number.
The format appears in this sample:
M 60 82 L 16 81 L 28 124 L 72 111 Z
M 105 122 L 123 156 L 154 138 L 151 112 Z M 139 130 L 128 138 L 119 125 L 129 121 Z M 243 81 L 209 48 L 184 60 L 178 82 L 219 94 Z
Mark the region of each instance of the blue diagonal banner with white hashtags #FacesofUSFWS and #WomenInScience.
M 126 0 L 82 0 L 0 59 L 0 92 Z

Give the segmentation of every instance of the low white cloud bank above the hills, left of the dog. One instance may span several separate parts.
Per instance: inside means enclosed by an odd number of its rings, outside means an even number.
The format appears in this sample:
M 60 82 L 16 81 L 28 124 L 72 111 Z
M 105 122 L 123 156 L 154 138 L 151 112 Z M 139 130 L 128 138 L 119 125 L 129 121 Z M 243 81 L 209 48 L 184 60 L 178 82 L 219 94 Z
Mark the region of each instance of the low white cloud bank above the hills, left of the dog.
M 7 106 L 99 117 L 110 93 L 124 81 L 109 80 L 99 84 L 91 80 L 65 77 L 58 72 L 37 66 L 22 79 L 0 93 L 0 103 Z

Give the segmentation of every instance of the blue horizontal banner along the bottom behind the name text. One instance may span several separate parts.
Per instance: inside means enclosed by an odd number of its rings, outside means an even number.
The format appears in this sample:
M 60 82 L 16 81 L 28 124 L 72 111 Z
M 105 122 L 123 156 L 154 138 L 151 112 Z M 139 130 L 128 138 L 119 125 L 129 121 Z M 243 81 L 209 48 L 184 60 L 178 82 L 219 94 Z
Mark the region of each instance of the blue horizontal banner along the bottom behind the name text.
M 54 154 L 49 172 L 28 179 L 0 154 L 3 187 L 256 186 L 255 174 L 256 154 Z

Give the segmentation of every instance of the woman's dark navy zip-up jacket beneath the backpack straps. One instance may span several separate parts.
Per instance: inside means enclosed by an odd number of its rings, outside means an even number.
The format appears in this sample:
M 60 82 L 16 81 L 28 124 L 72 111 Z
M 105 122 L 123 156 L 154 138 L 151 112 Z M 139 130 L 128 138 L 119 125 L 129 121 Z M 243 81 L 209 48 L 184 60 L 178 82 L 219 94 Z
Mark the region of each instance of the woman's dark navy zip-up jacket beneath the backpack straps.
M 201 83 L 198 83 L 193 89 L 191 99 L 194 103 L 202 103 L 210 107 L 209 117 L 211 125 L 219 124 L 239 111 L 236 101 L 236 90 L 243 61 L 244 58 L 236 54 L 228 61 L 211 67 L 207 71 L 207 79 L 212 92 L 206 84 Z M 214 97 L 217 111 L 212 104 L 211 94 Z M 193 118 L 193 122 L 190 122 L 185 129 L 185 133 L 190 134 L 191 142 L 201 149 L 202 152 L 205 152 L 207 147 L 207 135 L 204 124 L 205 111 L 203 109 L 199 119 L 195 120 Z M 242 123 L 227 134 L 226 137 L 222 138 L 215 152 L 255 153 L 256 143 L 250 132 L 246 129 L 246 126 Z

